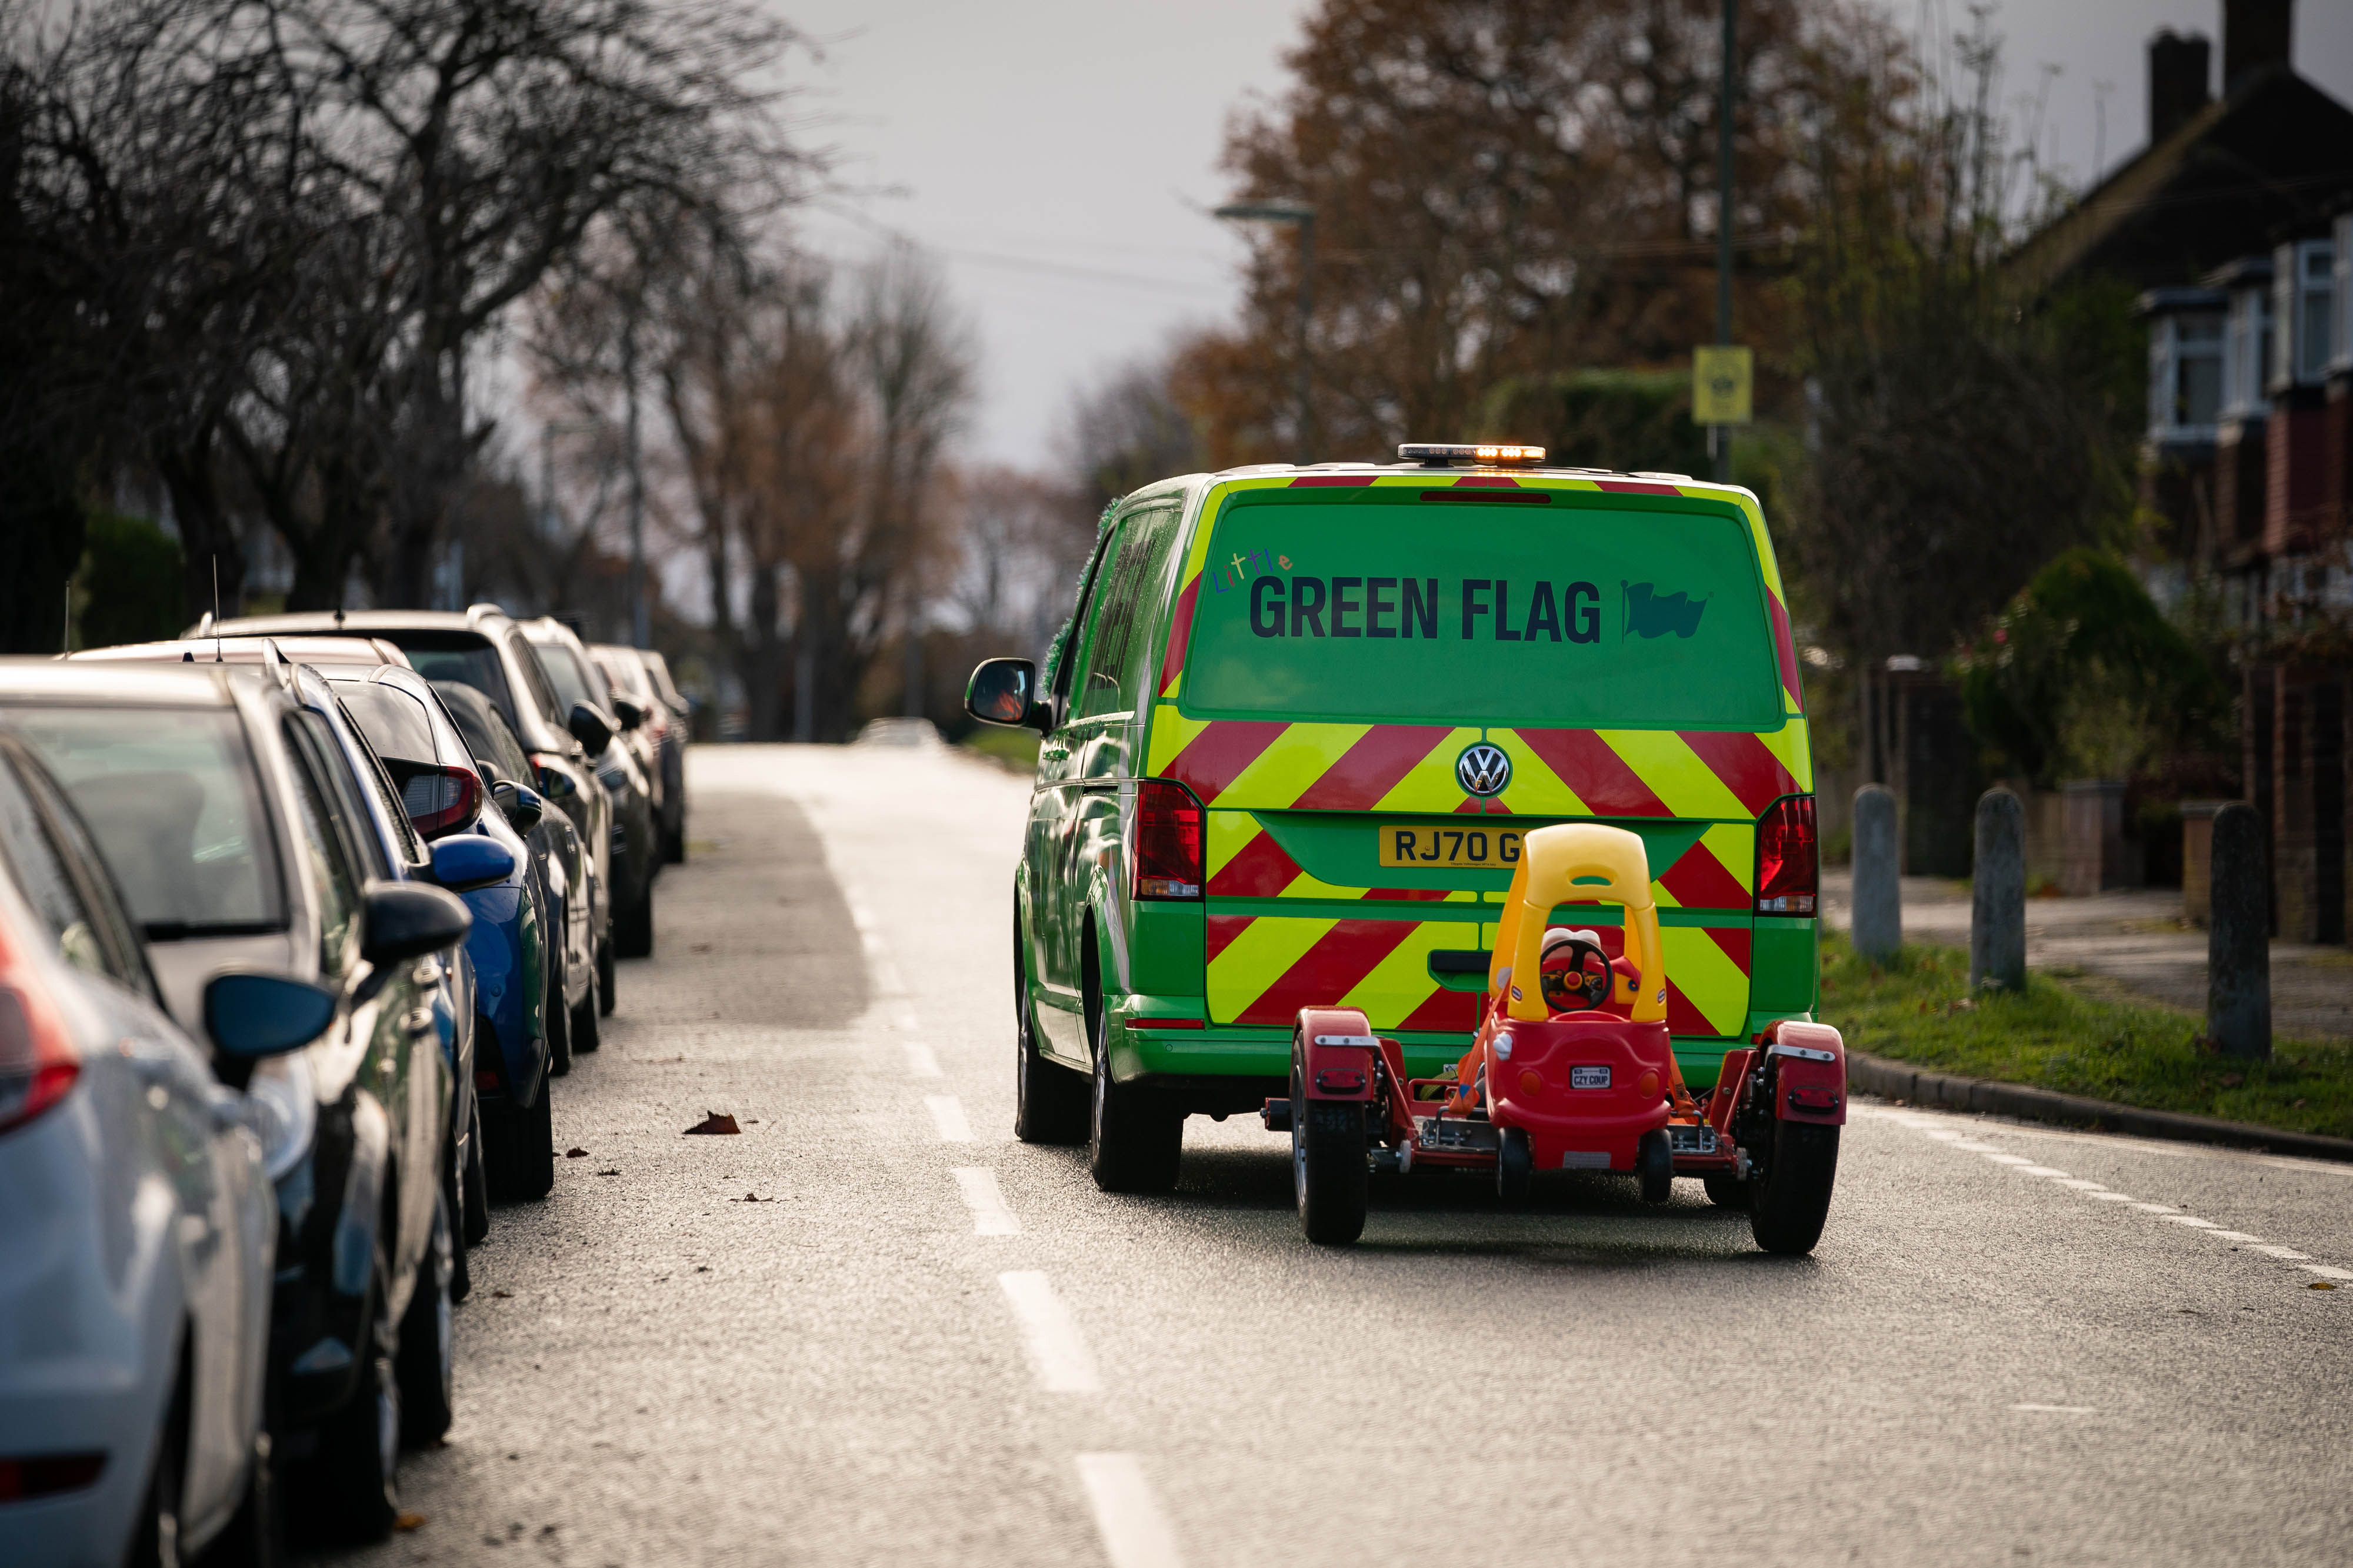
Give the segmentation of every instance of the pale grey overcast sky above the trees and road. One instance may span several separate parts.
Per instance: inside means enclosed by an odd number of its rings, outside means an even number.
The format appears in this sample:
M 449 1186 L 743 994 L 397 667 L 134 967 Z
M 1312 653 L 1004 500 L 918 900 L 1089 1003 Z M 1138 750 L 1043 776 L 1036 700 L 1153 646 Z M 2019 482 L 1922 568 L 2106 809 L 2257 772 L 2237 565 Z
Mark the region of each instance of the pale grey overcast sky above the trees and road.
M 1906 28 L 1958 0 L 1880 0 Z M 1228 320 L 1242 244 L 1207 216 L 1228 115 L 1282 89 L 1311 9 L 1285 0 L 776 0 L 824 42 L 802 110 L 864 195 L 807 216 L 819 247 L 936 252 L 979 329 L 976 458 L 1042 465 L 1071 393 L 1186 324 Z M 2221 0 L 2009 0 L 2007 92 L 2047 85 L 2045 160 L 2078 181 L 2148 127 L 2144 45 L 2217 38 Z M 2353 0 L 2297 7 L 2297 68 L 2353 103 Z M 2106 85 L 2106 92 L 2101 92 Z M 1426 430 L 1452 437 L 1452 430 Z

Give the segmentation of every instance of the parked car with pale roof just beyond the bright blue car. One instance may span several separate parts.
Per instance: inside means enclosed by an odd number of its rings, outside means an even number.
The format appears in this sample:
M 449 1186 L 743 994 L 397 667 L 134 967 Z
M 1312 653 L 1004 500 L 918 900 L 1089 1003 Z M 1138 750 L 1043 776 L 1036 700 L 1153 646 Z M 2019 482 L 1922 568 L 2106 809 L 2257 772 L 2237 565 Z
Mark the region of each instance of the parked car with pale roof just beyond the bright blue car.
M 558 705 L 555 689 L 506 611 L 496 604 L 475 604 L 466 611 L 369 609 L 238 616 L 221 623 L 205 616 L 188 635 L 209 637 L 214 632 L 374 637 L 395 644 L 426 679 L 461 682 L 487 696 L 532 759 L 534 778 L 529 783 L 572 818 L 581 846 L 588 851 L 586 875 L 579 882 L 586 886 L 588 929 L 595 933 L 595 947 L 586 971 L 595 987 L 598 1013 L 612 1013 L 614 837 L 619 827 L 612 797 L 598 780 L 595 759 L 612 743 L 616 719 L 586 703 Z

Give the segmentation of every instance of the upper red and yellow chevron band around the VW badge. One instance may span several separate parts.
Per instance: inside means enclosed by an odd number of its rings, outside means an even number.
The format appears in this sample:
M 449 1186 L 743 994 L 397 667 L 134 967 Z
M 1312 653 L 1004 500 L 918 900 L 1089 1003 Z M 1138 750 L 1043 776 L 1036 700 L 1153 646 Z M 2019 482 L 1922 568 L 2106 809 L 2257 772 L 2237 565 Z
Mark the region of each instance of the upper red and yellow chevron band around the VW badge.
M 1805 719 L 1779 731 L 1440 729 L 1435 724 L 1285 724 L 1153 712 L 1146 771 L 1205 806 L 1249 811 L 1478 811 L 1454 757 L 1480 738 L 1511 755 L 1511 816 L 1680 816 L 1755 820 L 1814 788 Z

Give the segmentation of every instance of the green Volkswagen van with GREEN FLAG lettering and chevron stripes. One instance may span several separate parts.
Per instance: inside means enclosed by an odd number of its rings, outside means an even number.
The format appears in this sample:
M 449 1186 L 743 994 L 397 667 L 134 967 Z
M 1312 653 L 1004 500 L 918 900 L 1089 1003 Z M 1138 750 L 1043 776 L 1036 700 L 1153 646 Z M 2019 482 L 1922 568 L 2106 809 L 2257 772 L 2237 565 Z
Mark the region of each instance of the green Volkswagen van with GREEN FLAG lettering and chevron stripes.
M 1045 672 L 972 675 L 972 717 L 1045 736 L 1016 1133 L 1085 1138 L 1106 1190 L 1167 1190 L 1186 1114 L 1282 1095 L 1301 1006 L 1362 1009 L 1414 1074 L 1461 1056 L 1546 823 L 1642 837 L 1694 1091 L 1812 1016 L 1814 769 L 1755 496 L 1400 458 L 1122 498 Z

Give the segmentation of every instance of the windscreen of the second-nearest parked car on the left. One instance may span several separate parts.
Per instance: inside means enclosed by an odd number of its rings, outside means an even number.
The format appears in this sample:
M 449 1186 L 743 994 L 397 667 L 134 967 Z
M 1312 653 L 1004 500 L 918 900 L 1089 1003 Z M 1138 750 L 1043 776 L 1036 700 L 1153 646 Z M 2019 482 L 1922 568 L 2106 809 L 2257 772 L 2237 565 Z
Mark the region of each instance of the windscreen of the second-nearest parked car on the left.
M 285 886 L 235 712 L 14 708 L 148 940 L 285 926 Z

